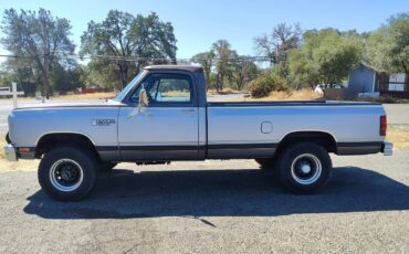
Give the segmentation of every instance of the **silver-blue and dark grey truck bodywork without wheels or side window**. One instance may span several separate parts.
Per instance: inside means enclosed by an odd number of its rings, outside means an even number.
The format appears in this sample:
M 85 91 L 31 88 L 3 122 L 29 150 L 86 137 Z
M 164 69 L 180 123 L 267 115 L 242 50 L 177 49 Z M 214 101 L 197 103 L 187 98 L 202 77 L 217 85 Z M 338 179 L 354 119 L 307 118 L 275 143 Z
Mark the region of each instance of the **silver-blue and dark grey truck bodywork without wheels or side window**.
M 128 94 L 151 73 L 189 75 L 192 102 L 138 110 Z M 386 113 L 376 103 L 207 103 L 202 68 L 195 66 L 147 67 L 127 93 L 120 102 L 14 109 L 10 142 L 18 157 L 34 158 L 46 135 L 73 134 L 90 140 L 105 161 L 168 161 L 268 158 L 289 135 L 323 134 L 338 155 L 391 152 L 379 133 Z

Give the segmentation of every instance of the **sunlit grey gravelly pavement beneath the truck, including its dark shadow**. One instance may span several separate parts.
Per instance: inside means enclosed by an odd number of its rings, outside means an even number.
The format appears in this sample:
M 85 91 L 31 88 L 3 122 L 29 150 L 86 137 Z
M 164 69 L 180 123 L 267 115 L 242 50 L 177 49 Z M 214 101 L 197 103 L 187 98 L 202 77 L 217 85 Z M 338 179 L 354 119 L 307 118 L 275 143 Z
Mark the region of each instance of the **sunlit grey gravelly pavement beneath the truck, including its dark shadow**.
M 76 203 L 2 172 L 0 253 L 408 253 L 409 151 L 333 160 L 314 195 L 251 160 L 124 163 Z

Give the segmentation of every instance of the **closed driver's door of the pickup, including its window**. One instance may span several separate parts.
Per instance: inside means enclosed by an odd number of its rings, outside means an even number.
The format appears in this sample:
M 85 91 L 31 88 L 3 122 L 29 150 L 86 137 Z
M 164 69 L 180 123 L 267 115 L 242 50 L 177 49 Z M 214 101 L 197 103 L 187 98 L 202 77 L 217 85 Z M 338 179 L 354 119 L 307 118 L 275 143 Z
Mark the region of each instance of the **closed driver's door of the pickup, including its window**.
M 138 109 L 139 93 L 148 106 Z M 193 78 L 185 73 L 151 73 L 120 107 L 118 145 L 123 160 L 198 159 L 198 106 Z M 137 112 L 136 112 L 137 110 Z

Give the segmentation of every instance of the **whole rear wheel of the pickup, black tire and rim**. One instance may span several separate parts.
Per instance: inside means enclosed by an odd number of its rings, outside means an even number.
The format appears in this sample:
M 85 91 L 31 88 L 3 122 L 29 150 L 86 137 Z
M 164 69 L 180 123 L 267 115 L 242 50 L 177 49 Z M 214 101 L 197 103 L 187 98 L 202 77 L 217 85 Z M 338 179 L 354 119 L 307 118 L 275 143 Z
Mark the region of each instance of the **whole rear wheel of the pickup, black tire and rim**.
M 276 160 L 281 183 L 294 193 L 312 193 L 332 176 L 328 151 L 316 144 L 301 142 L 282 150 Z

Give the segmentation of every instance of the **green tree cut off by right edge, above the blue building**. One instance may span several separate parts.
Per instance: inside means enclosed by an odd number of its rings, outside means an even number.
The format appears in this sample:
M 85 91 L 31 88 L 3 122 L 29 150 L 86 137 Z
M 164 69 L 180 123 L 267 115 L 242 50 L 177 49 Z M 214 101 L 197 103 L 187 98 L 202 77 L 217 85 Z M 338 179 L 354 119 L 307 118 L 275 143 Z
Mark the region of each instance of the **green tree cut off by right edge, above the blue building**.
M 385 72 L 409 73 L 409 12 L 389 18 L 368 38 L 365 56 Z

